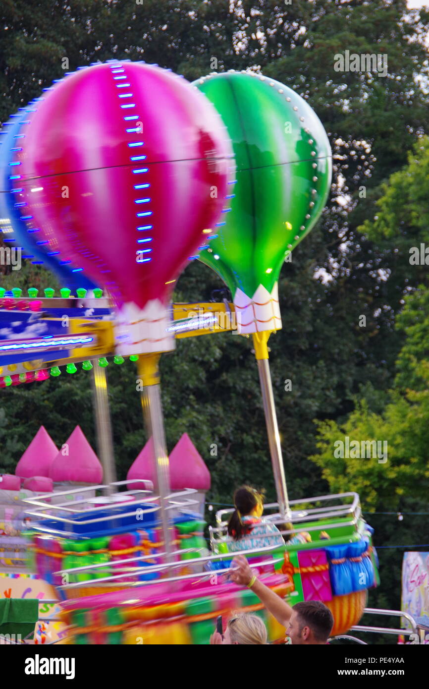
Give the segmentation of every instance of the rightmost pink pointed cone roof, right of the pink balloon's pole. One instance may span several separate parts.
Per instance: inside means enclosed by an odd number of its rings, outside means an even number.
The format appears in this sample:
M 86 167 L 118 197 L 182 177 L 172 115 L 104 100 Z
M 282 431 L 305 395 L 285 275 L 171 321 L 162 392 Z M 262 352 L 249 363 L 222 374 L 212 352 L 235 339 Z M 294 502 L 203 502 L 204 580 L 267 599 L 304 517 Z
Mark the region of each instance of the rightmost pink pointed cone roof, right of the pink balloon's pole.
M 183 433 L 170 453 L 170 484 L 172 491 L 184 488 L 208 491 L 210 488 L 209 469 L 187 433 Z

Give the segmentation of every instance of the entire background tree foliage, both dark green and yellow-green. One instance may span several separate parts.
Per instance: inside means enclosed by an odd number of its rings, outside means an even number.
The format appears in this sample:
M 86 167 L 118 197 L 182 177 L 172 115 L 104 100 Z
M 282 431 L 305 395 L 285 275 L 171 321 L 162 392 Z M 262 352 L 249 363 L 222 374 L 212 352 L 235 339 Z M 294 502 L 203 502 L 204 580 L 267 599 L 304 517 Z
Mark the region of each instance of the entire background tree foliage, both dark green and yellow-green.
M 65 71 L 112 57 L 158 63 L 189 80 L 262 71 L 308 100 L 328 132 L 334 175 L 320 223 L 282 269 L 283 327 L 269 342 L 289 495 L 356 490 L 367 511 L 421 511 L 428 282 L 409 249 L 428 232 L 429 13 L 408 10 L 405 0 L 3 0 L 0 14 L 3 121 Z M 335 71 L 345 50 L 386 54 L 386 76 Z M 8 289 L 56 286 L 31 265 L 1 269 Z M 174 300 L 217 300 L 220 289 L 193 262 Z M 161 373 L 167 444 L 189 433 L 211 471 L 210 500 L 229 504 L 244 481 L 273 499 L 251 342 L 230 334 L 181 340 Z M 123 478 L 146 439 L 132 364 L 109 366 L 108 377 Z M 61 444 L 77 422 L 95 446 L 84 371 L 2 390 L 0 471 L 12 469 L 40 424 Z M 333 442 L 344 435 L 386 438 L 388 462 L 333 460 Z M 409 526 L 399 537 L 398 524 L 374 519 L 376 542 L 416 542 Z M 387 584 L 373 594 L 381 605 L 399 606 L 400 557 L 385 556 Z

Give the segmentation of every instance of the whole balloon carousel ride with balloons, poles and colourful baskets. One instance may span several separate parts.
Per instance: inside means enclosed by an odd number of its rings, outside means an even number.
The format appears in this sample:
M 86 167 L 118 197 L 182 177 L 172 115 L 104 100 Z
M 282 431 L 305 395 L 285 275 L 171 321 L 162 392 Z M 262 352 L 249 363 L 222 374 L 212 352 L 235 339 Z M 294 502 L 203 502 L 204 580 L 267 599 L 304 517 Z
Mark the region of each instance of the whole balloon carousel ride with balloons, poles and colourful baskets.
M 70 643 L 207 644 L 218 615 L 258 610 L 265 618 L 251 590 L 228 579 L 222 515 L 209 553 L 194 491 L 171 491 L 160 403 L 158 361 L 174 339 L 234 328 L 252 336 L 258 362 L 273 518 L 293 524 L 282 529 L 292 536 L 284 547 L 245 554 L 279 595 L 323 599 L 335 609 L 336 632 L 348 628 L 376 583 L 370 528 L 354 493 L 289 502 L 267 347 L 281 327 L 280 268 L 326 203 L 331 149 L 319 119 L 260 74 L 210 75 L 192 88 L 130 61 L 67 74 L 23 111 L 0 147 L 3 232 L 28 247 L 25 258 L 61 274 L 67 292 L 61 303 L 50 290 L 25 306 L 20 294 L 6 295 L 0 307 L 11 328 L 0 365 L 4 357 L 21 368 L 3 383 L 42 380 L 63 365 L 73 373 L 76 362 L 91 368 L 105 479 L 95 506 L 52 504 L 50 494 L 26 500 L 34 567 L 63 597 Z M 196 258 L 216 270 L 233 302 L 171 305 L 180 272 Z M 103 304 L 95 285 L 105 289 Z M 154 491 L 118 492 L 107 356 L 137 362 Z M 326 506 L 333 499 L 341 504 Z M 270 639 L 281 639 L 284 630 L 266 621 Z

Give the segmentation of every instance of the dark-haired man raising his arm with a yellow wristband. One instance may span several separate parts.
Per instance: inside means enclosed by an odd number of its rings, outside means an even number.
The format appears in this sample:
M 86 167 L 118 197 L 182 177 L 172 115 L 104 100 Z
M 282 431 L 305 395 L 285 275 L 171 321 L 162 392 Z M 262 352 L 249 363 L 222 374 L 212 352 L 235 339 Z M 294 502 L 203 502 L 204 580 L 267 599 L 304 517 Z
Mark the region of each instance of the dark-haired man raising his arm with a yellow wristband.
M 277 593 L 253 575 L 244 555 L 234 557 L 231 579 L 236 584 L 251 588 L 271 615 L 286 628 L 286 635 L 295 646 L 323 646 L 328 641 L 334 619 L 331 610 L 326 608 L 322 601 L 303 601 L 291 608 Z

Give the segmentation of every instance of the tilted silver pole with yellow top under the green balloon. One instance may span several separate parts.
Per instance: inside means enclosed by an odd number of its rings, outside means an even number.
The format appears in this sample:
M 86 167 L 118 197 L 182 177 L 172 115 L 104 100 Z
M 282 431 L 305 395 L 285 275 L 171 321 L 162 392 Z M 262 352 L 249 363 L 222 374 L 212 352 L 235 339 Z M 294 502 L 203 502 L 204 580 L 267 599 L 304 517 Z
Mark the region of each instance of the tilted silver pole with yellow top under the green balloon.
M 264 414 L 266 432 L 268 433 L 269 449 L 271 454 L 271 464 L 275 480 L 275 490 L 281 515 L 290 515 L 289 497 L 287 494 L 286 477 L 284 476 L 284 466 L 282 458 L 282 446 L 275 413 L 273 386 L 271 384 L 270 365 L 268 360 L 268 348 L 266 342 L 269 338 L 269 331 L 255 333 L 253 343 L 255 344 L 255 356 L 258 361 L 258 373 L 262 391 L 262 402 L 264 403 Z

